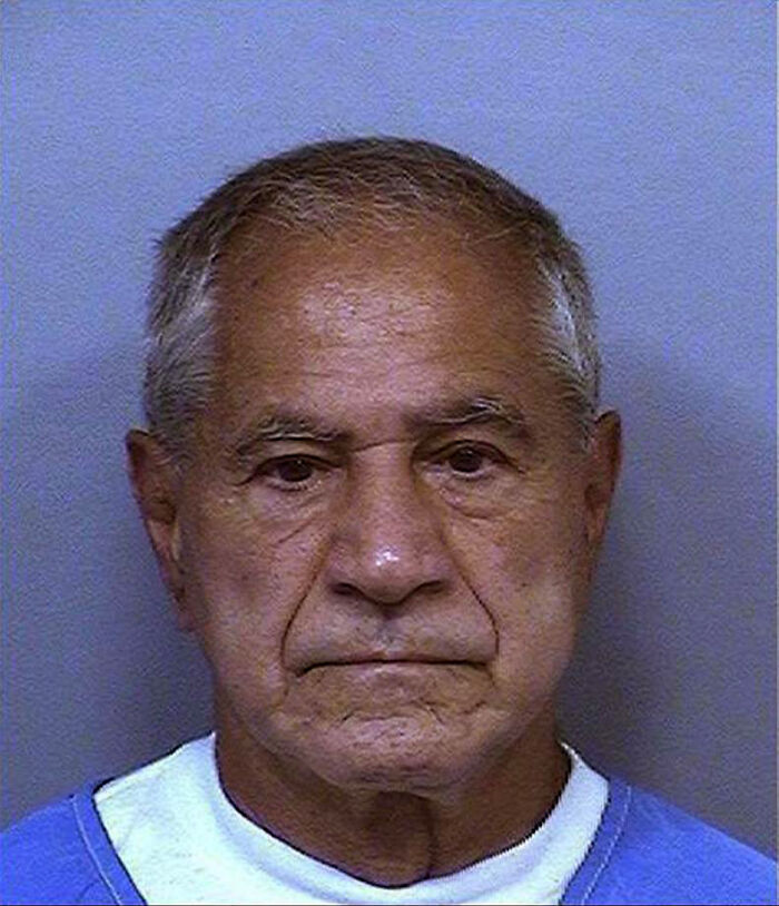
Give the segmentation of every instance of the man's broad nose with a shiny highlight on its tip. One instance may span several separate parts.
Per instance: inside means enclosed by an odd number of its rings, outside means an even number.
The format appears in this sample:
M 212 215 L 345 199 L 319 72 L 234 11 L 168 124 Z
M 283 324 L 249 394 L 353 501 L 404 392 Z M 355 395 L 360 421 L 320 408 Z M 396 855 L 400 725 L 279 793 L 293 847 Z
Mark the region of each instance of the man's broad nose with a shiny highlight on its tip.
M 341 595 L 396 605 L 445 590 L 453 567 L 432 501 L 407 465 L 363 470 L 351 483 L 326 569 Z

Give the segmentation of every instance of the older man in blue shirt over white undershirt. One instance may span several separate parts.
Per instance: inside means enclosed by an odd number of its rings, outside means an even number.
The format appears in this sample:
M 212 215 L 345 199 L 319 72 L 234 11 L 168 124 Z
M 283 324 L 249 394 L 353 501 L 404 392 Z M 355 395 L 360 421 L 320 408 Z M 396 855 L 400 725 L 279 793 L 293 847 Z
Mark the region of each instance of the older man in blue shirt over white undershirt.
M 770 903 L 558 738 L 620 460 L 575 247 L 421 141 L 165 238 L 130 472 L 215 735 L 12 829 L 7 903 Z

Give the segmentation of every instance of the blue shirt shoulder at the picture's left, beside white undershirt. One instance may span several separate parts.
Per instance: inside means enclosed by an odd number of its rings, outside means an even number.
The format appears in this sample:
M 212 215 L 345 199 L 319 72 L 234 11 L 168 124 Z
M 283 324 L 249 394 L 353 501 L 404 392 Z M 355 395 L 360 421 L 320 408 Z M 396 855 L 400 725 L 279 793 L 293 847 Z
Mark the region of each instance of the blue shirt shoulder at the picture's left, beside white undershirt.
M 2 831 L 0 902 L 142 902 L 102 831 L 93 786 L 33 811 Z

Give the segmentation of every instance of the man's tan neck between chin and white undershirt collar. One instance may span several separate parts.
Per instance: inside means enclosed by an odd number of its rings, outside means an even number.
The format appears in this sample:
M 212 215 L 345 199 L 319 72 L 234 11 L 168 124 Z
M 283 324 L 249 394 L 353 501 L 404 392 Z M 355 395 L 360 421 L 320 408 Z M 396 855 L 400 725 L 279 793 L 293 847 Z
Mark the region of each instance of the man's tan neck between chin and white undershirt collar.
M 283 760 L 217 708 L 219 779 L 236 808 L 321 861 L 386 887 L 447 875 L 529 837 L 569 774 L 552 709 L 483 774 L 424 794 L 343 789 Z

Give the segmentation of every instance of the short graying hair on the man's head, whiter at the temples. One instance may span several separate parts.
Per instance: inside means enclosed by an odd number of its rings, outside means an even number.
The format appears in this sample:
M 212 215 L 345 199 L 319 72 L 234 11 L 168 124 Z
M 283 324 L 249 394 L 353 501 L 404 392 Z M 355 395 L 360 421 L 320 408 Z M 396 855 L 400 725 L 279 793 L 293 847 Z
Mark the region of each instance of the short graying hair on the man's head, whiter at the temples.
M 500 174 L 427 141 L 356 138 L 304 145 L 234 176 L 159 245 L 149 293 L 144 407 L 149 430 L 176 463 L 187 459 L 198 413 L 208 402 L 215 355 L 218 264 L 246 227 L 293 235 L 335 233 L 345 224 L 401 228 L 412 216 L 487 225 L 530 255 L 549 288 L 534 316 L 544 363 L 560 381 L 585 445 L 598 410 L 595 315 L 576 246 L 555 216 Z M 471 225 L 469 228 L 465 225 Z M 256 248 L 262 255 L 262 242 Z

